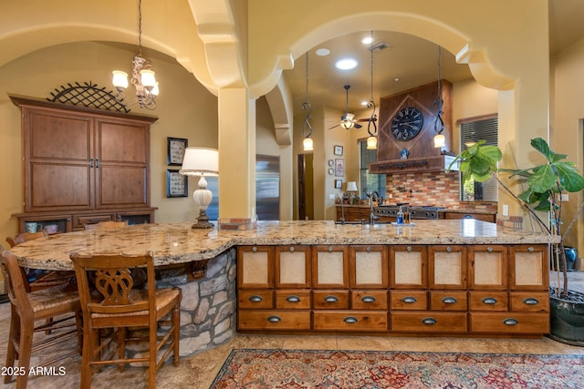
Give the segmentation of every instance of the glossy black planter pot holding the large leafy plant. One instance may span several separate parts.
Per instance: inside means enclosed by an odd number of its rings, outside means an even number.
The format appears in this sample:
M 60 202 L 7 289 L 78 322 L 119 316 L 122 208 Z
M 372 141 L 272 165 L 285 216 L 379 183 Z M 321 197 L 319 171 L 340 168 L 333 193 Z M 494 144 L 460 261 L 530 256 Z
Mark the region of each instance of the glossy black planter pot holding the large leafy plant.
M 550 295 L 549 321 L 550 338 L 561 343 L 584 346 L 584 301 L 558 299 Z

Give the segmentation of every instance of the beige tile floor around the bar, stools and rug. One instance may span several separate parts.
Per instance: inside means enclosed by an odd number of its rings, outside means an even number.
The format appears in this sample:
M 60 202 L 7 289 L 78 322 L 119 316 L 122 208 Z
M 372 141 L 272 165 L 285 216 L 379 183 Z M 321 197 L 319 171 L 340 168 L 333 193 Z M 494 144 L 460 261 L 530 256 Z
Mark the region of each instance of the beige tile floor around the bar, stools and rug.
M 584 292 L 584 271 L 571 272 L 570 288 Z M 10 304 L 0 304 L 0 363 L 4 366 L 5 344 L 10 320 Z M 435 351 L 468 353 L 565 353 L 581 354 L 584 347 L 569 346 L 541 339 L 465 339 L 465 338 L 414 338 L 414 337 L 373 337 L 373 336 L 284 336 L 284 335 L 237 335 L 228 343 L 204 353 L 181 358 L 178 367 L 166 363 L 157 374 L 158 388 L 209 388 L 225 358 L 234 348 L 281 348 L 319 350 L 396 350 Z M 44 355 L 42 353 L 45 353 Z M 32 364 L 47 358 L 47 352 L 37 353 Z M 38 358 L 38 359 L 36 359 Z M 79 384 L 80 356 L 73 356 L 60 362 L 66 374 L 61 376 L 38 375 L 30 377 L 29 388 L 75 388 Z M 92 388 L 141 388 L 147 386 L 147 369 L 128 367 L 119 373 L 115 367 L 106 367 L 92 380 Z M 15 388 L 16 381 L 5 384 L 6 389 Z

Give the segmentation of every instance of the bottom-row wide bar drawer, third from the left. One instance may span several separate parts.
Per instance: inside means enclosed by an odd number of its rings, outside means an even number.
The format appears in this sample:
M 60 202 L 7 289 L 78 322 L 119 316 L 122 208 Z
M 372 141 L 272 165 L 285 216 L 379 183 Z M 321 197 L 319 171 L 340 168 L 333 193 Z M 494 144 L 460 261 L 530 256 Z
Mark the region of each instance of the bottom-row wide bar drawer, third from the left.
M 465 333 L 466 312 L 391 312 L 391 331 L 404 333 Z

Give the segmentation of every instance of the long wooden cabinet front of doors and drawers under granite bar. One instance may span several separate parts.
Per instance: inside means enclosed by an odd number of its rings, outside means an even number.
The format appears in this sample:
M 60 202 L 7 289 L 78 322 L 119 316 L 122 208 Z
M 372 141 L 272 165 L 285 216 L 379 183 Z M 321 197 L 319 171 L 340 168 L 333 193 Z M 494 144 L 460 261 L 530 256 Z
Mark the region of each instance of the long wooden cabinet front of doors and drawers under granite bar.
M 238 248 L 244 332 L 549 331 L 547 245 Z

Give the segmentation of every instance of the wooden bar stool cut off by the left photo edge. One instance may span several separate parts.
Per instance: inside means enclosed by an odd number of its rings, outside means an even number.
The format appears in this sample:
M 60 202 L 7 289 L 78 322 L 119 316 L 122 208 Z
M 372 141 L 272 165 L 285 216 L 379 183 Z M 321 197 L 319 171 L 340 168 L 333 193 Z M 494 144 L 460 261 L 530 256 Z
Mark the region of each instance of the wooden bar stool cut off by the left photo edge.
M 16 378 L 16 388 L 25 389 L 32 353 L 49 346 L 78 338 L 78 347 L 68 353 L 60 353 L 40 366 L 49 366 L 68 356 L 79 353 L 83 343 L 81 306 L 74 284 L 61 284 L 36 292 L 26 292 L 25 280 L 16 257 L 10 251 L 0 251 L 0 267 L 5 279 L 6 292 L 10 299 L 10 332 L 6 350 L 6 367 L 13 367 L 18 359 L 18 372 L 24 374 Z M 69 313 L 74 313 L 70 315 Z M 75 317 L 74 323 L 70 319 Z M 51 320 L 52 319 L 52 320 Z M 45 323 L 35 326 L 35 322 Z M 37 332 L 54 332 L 33 342 Z M 8 369 L 6 372 L 14 372 Z M 12 381 L 12 374 L 6 374 L 5 384 Z

